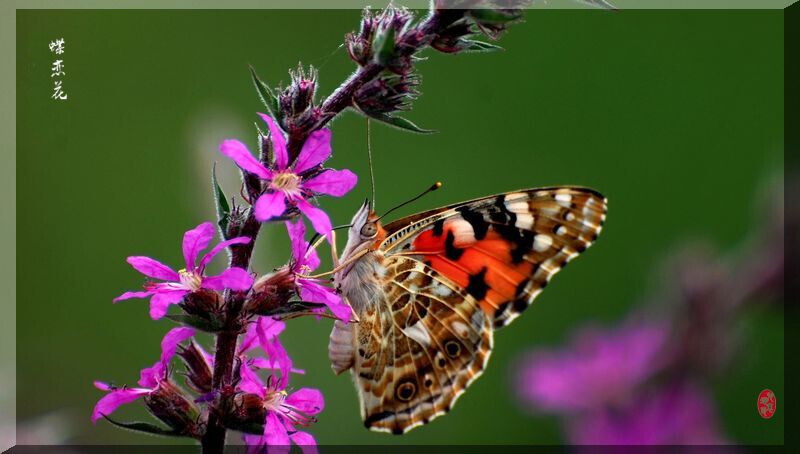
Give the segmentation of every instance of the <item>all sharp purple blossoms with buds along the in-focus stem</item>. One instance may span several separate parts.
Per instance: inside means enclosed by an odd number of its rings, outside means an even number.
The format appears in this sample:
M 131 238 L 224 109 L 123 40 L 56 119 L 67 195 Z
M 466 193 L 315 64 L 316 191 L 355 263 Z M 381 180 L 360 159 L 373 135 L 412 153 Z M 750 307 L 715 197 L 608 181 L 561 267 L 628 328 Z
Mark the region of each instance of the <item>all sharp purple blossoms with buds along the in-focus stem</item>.
M 290 391 L 290 374 L 303 371 L 293 367 L 280 343 L 278 335 L 285 324 L 274 317 L 280 316 L 278 309 L 297 299 L 303 304 L 315 304 L 309 313 L 321 314 L 327 308 L 334 317 L 350 321 L 351 309 L 337 292 L 322 280 L 309 276 L 319 267 L 320 260 L 305 239 L 303 220 L 290 219 L 302 214 L 318 233 L 330 238 L 328 215 L 315 206 L 313 198 L 342 196 L 357 180 L 349 170 L 323 167 L 331 155 L 329 130 L 311 134 L 296 159 L 291 161 L 283 131 L 273 118 L 264 114 L 261 117 L 270 131 L 268 140 L 274 151 L 270 162 L 255 158 L 237 140 L 224 141 L 220 151 L 241 168 L 245 179 L 257 177 L 260 193 L 252 200 L 253 217 L 259 222 L 287 219 L 291 260 L 257 282 L 253 273 L 240 266 L 229 266 L 218 275 L 207 275 L 206 268 L 220 252 L 229 250 L 235 256 L 237 248 L 252 247 L 253 241 L 251 236 L 224 239 L 202 254 L 217 231 L 211 222 L 204 222 L 184 234 L 185 267 L 178 271 L 149 257 L 128 257 L 128 263 L 148 280 L 144 291 L 123 293 L 114 302 L 150 298 L 151 318 L 158 320 L 166 316 L 187 326 L 167 333 L 161 344 L 161 359 L 141 371 L 138 387 L 95 382 L 95 386 L 107 394 L 95 406 L 93 422 L 105 417 L 123 427 L 202 440 L 208 433 L 210 418 L 215 417 L 224 427 L 243 432 L 245 441 L 252 446 L 315 443 L 310 434 L 299 428 L 315 421 L 315 415 L 324 406 L 323 397 L 315 389 Z M 231 236 L 230 231 L 232 227 L 223 230 L 223 238 Z M 231 307 L 237 301 L 241 302 L 242 309 L 231 317 Z M 184 314 L 168 315 L 172 305 L 178 305 Z M 197 330 L 243 332 L 235 349 L 234 368 L 228 383 L 217 383 L 215 371 L 219 358 L 207 353 L 195 339 Z M 186 387 L 175 381 L 170 368 L 176 355 L 185 367 Z M 267 374 L 265 380 L 259 376 L 262 370 Z M 120 405 L 139 399 L 169 429 L 146 423 L 118 423 L 109 418 Z

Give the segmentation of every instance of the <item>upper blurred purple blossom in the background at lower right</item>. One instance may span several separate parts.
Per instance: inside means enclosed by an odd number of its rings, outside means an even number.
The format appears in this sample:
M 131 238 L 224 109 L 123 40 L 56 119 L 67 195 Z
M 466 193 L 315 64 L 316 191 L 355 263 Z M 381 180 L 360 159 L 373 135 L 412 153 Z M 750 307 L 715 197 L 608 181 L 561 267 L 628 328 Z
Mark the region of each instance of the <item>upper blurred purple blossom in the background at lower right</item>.
M 624 399 L 662 366 L 662 325 L 628 323 L 585 330 L 566 350 L 534 352 L 519 375 L 522 398 L 543 411 L 571 413 Z

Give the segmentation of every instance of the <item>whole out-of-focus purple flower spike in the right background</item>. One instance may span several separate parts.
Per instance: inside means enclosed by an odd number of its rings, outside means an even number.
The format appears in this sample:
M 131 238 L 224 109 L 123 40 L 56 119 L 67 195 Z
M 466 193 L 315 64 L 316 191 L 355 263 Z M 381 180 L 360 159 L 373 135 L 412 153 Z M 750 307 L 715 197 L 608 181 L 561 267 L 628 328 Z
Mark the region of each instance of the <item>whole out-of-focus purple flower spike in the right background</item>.
M 529 353 L 517 374 L 522 400 L 560 416 L 571 444 L 725 443 L 708 385 L 730 364 L 741 309 L 782 299 L 783 200 L 772 199 L 780 204 L 760 217 L 772 222 L 744 260 L 697 246 L 668 260 L 670 288 L 651 297 L 658 317 L 584 327 L 567 347 Z

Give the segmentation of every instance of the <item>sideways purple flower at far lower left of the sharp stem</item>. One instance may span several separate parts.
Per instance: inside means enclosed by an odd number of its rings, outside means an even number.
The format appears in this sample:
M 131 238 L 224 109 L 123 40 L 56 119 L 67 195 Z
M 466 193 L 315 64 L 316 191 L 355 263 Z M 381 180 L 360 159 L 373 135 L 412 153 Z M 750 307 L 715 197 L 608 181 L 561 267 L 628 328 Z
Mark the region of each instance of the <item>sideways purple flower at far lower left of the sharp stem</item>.
M 120 405 L 133 402 L 140 397 L 155 392 L 161 382 L 166 380 L 169 372 L 169 361 L 175 356 L 178 344 L 194 336 L 192 328 L 173 328 L 161 341 L 161 359 L 152 367 L 142 369 L 139 376 L 141 388 L 117 388 L 101 381 L 94 382 L 94 386 L 103 391 L 110 391 L 95 405 L 92 412 L 92 422 L 96 423 L 103 416 L 113 413 Z

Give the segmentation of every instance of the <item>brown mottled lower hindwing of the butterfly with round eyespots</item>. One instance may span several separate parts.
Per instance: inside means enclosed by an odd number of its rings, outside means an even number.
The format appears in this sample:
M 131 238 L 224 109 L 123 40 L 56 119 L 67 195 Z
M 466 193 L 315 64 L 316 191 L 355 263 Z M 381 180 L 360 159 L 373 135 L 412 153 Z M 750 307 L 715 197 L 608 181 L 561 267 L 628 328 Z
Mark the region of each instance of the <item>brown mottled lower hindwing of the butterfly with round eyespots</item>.
M 386 262 L 385 305 L 361 315 L 354 374 L 368 428 L 401 434 L 446 413 L 482 373 L 492 322 L 422 262 Z

